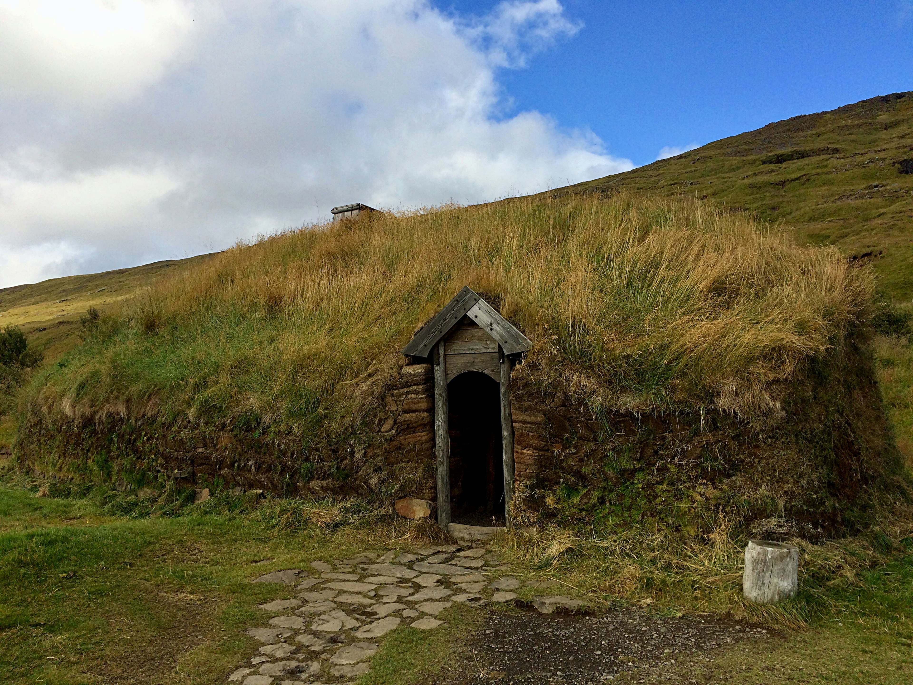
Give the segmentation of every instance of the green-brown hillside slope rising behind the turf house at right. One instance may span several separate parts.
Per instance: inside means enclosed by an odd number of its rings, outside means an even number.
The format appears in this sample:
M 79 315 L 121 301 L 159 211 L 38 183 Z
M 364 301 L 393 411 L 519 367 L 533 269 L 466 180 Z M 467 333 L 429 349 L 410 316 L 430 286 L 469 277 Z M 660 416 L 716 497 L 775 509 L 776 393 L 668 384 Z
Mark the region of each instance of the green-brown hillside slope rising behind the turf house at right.
M 913 298 L 913 91 L 777 121 L 562 191 L 623 189 L 707 197 L 779 222 L 800 243 L 871 261 L 888 297 Z

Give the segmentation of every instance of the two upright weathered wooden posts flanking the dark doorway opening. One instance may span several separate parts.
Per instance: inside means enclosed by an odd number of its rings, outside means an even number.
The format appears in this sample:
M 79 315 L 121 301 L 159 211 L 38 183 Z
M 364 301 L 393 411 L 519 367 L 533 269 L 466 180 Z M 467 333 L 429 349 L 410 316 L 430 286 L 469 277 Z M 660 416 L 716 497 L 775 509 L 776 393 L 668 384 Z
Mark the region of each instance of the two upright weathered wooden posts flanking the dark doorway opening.
M 447 403 L 447 370 L 444 340 L 435 345 L 435 453 L 437 475 L 437 524 L 447 529 L 452 520 L 450 508 L 450 426 Z M 504 464 L 504 523 L 513 527 L 510 520 L 510 503 L 514 493 L 514 432 L 513 414 L 510 409 L 510 357 L 498 345 L 500 369 L 501 460 Z

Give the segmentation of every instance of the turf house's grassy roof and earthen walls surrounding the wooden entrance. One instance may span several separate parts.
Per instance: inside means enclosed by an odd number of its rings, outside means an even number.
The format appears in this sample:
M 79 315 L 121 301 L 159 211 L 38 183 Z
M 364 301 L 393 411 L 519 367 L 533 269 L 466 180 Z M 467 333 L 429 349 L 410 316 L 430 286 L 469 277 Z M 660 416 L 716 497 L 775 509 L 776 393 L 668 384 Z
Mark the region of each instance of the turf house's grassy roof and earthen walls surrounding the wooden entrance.
M 17 458 L 136 489 L 193 467 L 213 487 L 408 494 L 429 464 L 394 476 L 384 397 L 398 351 L 468 285 L 534 343 L 515 403 L 560 395 L 593 425 L 547 443 L 515 502 L 527 521 L 697 530 L 696 507 L 747 525 L 785 502 L 813 526 L 855 527 L 897 485 L 862 344 L 873 277 L 835 248 L 640 195 L 318 228 L 227 250 L 89 323 L 26 389 Z

